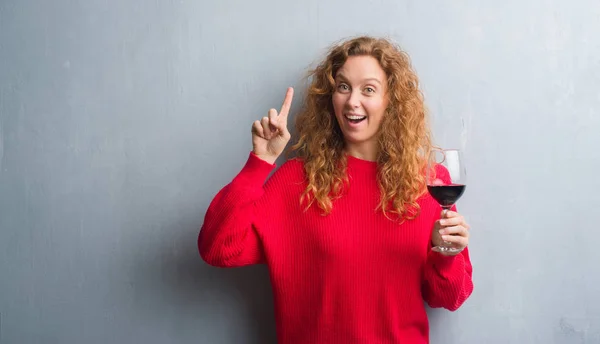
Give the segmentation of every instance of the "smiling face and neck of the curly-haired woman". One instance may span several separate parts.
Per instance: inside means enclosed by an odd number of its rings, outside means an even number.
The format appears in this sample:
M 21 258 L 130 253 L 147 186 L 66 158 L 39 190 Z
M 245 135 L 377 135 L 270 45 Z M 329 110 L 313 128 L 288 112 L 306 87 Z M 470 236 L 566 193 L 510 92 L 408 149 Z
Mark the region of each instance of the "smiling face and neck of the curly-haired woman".
M 346 151 L 375 160 L 377 134 L 388 106 L 387 76 L 371 56 L 350 56 L 335 75 L 332 96 L 335 117 Z

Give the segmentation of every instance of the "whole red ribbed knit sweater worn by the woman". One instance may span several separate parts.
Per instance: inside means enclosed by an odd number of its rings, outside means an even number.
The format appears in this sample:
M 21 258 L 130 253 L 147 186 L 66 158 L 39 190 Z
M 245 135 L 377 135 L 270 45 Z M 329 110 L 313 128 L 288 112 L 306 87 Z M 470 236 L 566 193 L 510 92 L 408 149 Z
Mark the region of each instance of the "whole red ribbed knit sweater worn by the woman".
M 403 224 L 376 211 L 375 162 L 348 157 L 349 187 L 323 216 L 300 204 L 302 162 L 274 165 L 250 153 L 210 204 L 198 238 L 211 265 L 266 263 L 278 342 L 428 343 L 425 302 L 456 310 L 471 294 L 468 250 L 430 251 L 440 206 L 424 195 Z

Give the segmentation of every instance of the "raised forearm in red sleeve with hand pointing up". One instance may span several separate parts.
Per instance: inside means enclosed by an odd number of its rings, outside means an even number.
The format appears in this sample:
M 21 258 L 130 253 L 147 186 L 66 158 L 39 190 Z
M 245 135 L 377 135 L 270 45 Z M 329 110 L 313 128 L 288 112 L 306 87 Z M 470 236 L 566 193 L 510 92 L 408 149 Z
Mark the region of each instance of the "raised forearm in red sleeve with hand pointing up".
M 200 255 L 208 264 L 235 267 L 264 262 L 255 223 L 265 215 L 256 203 L 265 197 L 264 182 L 290 139 L 287 117 L 292 97 L 289 88 L 279 113 L 271 109 L 268 117 L 254 122 L 253 150 L 246 164 L 208 207 L 198 235 Z M 279 190 L 271 188 L 269 192 Z

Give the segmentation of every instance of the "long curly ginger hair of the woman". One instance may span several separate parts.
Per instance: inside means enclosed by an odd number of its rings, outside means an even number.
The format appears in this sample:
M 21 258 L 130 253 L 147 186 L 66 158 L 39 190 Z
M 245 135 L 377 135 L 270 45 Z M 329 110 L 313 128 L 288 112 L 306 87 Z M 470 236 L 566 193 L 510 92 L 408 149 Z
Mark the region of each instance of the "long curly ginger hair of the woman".
M 308 74 L 304 108 L 296 117 L 297 142 L 291 152 L 304 162 L 308 185 L 301 202 L 316 202 L 329 214 L 348 183 L 344 137 L 335 118 L 335 77 L 349 56 L 372 56 L 387 75 L 389 105 L 378 132 L 378 209 L 400 221 L 415 218 L 426 190 L 425 168 L 431 134 L 419 80 L 406 52 L 383 38 L 361 36 L 333 45 Z

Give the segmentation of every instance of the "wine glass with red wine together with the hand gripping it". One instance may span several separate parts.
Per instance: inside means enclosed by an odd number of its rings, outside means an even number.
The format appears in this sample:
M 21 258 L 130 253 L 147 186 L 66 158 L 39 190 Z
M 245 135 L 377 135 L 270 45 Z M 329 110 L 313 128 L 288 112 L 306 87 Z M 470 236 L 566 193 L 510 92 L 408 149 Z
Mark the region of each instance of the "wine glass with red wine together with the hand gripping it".
M 463 216 L 450 211 L 465 191 L 464 159 L 456 149 L 434 150 L 431 154 L 427 168 L 427 190 L 443 209 L 433 229 L 432 250 L 456 255 L 469 243 L 469 225 Z

